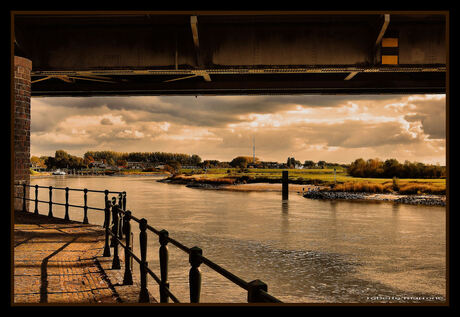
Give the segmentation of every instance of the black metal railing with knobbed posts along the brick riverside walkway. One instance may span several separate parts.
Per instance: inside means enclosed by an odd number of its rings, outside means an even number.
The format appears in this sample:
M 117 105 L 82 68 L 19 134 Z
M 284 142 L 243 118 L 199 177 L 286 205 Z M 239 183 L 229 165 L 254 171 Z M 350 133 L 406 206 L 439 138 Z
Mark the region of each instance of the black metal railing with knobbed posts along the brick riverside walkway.
M 22 184 L 24 186 L 25 184 Z M 32 185 L 25 185 L 30 187 L 36 188 L 36 206 L 37 206 L 37 190 L 38 188 L 50 188 L 44 186 L 32 186 Z M 24 201 L 24 211 L 25 208 L 25 201 L 26 200 L 33 200 L 25 198 L 26 190 L 24 186 L 24 196 L 23 197 L 16 197 L 22 198 Z M 58 189 L 54 187 L 54 189 Z M 66 192 L 70 190 L 80 190 L 80 189 L 69 189 L 65 188 Z M 139 272 L 140 272 L 140 292 L 139 292 L 139 302 L 140 303 L 148 303 L 150 301 L 149 291 L 148 291 L 148 283 L 147 278 L 150 275 L 155 282 L 159 286 L 159 294 L 160 294 L 160 303 L 168 303 L 169 299 L 171 299 L 174 303 L 180 303 L 177 297 L 171 292 L 169 289 L 169 281 L 168 281 L 168 262 L 169 262 L 169 250 L 168 244 L 172 244 L 178 249 L 182 250 L 183 252 L 187 253 L 189 256 L 189 263 L 190 263 L 190 270 L 189 270 L 189 291 L 190 291 L 190 302 L 191 303 L 199 303 L 200 302 L 200 294 L 201 294 L 201 271 L 200 265 L 205 264 L 218 274 L 222 275 L 223 277 L 227 278 L 237 286 L 243 288 L 247 291 L 247 301 L 249 303 L 281 303 L 279 299 L 270 295 L 267 292 L 267 284 L 260 280 L 254 280 L 251 282 L 244 281 L 240 277 L 234 275 L 233 273 L 227 271 L 223 267 L 219 266 L 218 264 L 214 263 L 213 261 L 209 260 L 205 256 L 203 256 L 203 251 L 201 248 L 194 246 L 192 248 L 186 247 L 182 243 L 178 242 L 177 240 L 169 237 L 169 233 L 166 230 L 158 230 L 154 227 L 150 226 L 147 223 L 147 219 L 142 218 L 138 219 L 132 215 L 130 210 L 126 210 L 126 192 L 112 192 L 112 191 L 95 191 L 95 190 L 84 190 L 85 197 L 87 192 L 99 192 L 105 193 L 105 208 L 94 208 L 94 207 L 87 207 L 86 206 L 86 199 L 85 199 L 85 206 L 87 209 L 96 209 L 96 210 L 103 210 L 104 211 L 104 225 L 105 228 L 105 242 L 104 242 L 104 257 L 111 256 L 111 248 L 113 248 L 113 259 L 112 259 L 112 269 L 120 269 L 120 257 L 119 257 L 119 246 L 124 249 L 124 256 L 125 256 L 125 267 L 124 267 L 124 276 L 123 276 L 123 285 L 132 285 L 133 284 L 133 276 L 132 276 L 132 269 L 133 269 L 133 260 L 135 260 L 139 264 Z M 108 199 L 109 193 L 118 193 L 118 203 L 117 198 L 112 197 L 111 200 Z M 51 201 L 51 194 L 50 194 L 50 201 Z M 42 201 L 38 201 L 42 202 Z M 66 195 L 66 204 L 69 207 L 81 207 L 81 206 L 74 206 L 68 204 L 68 195 Z M 50 204 L 51 206 L 51 204 Z M 51 209 L 50 209 L 51 210 Z M 67 208 L 66 208 L 67 210 Z M 38 214 L 37 208 L 35 209 L 34 213 Z M 48 214 L 50 215 L 50 214 Z M 67 211 L 66 211 L 66 215 Z M 51 213 L 52 216 L 52 213 Z M 112 222 L 110 222 L 110 218 L 112 216 Z M 87 217 L 85 218 L 87 219 Z M 131 232 L 131 220 L 136 222 L 139 225 L 139 249 L 140 249 L 140 257 L 137 256 L 133 251 L 133 234 Z M 112 225 L 112 227 L 110 227 Z M 160 265 L 160 276 L 156 275 L 150 268 L 149 263 L 147 261 L 147 239 L 148 235 L 147 232 L 154 233 L 158 236 L 160 248 L 159 248 L 159 265 Z

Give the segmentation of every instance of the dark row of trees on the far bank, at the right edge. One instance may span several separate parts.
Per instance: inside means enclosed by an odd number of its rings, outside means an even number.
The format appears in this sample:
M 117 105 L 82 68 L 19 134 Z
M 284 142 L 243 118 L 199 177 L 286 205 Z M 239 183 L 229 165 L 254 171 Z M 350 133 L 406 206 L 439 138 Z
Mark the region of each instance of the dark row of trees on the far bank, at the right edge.
M 423 164 L 420 162 L 404 163 L 396 159 L 381 161 L 379 159 L 356 159 L 347 169 L 350 176 L 372 178 L 444 178 L 446 167 L 439 165 Z

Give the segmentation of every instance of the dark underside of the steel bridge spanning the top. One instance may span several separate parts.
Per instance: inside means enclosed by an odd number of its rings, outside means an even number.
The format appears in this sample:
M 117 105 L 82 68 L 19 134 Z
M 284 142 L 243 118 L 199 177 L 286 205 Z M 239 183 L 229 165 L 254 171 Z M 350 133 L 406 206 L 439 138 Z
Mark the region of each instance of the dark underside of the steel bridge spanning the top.
M 444 93 L 446 13 L 21 13 L 32 96 Z

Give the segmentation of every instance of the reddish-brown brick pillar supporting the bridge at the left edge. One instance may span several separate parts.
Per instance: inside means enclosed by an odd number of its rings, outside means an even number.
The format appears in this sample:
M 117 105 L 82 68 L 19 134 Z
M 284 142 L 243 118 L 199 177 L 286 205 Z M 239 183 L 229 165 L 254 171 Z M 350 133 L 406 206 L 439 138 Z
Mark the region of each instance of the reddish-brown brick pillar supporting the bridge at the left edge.
M 14 183 L 30 184 L 30 71 L 32 61 L 14 56 Z M 29 198 L 29 188 L 26 187 Z M 14 186 L 14 196 L 23 195 L 22 186 Z M 21 199 L 14 199 L 14 209 L 23 209 Z M 29 202 L 26 202 L 29 210 Z

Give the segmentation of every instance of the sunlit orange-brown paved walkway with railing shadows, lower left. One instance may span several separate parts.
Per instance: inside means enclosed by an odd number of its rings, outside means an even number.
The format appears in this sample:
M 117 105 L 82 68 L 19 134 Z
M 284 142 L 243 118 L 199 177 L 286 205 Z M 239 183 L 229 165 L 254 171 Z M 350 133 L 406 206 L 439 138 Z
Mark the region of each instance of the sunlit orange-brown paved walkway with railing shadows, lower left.
M 139 283 L 123 285 L 124 252 L 112 270 L 104 237 L 100 226 L 16 211 L 13 304 L 137 303 Z

